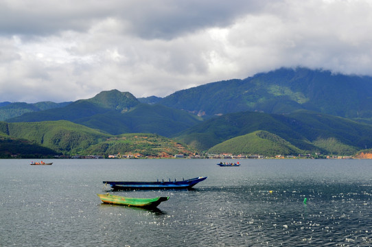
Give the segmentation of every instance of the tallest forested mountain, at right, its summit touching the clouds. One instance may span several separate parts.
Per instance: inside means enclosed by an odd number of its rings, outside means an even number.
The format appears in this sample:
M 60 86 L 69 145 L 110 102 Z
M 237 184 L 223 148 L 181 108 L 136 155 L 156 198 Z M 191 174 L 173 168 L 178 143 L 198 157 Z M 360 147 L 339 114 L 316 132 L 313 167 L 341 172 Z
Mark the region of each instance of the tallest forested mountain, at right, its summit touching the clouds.
M 371 119 L 372 78 L 305 68 L 278 69 L 177 91 L 159 102 L 205 117 L 246 110 L 292 113 L 313 110 L 350 119 Z

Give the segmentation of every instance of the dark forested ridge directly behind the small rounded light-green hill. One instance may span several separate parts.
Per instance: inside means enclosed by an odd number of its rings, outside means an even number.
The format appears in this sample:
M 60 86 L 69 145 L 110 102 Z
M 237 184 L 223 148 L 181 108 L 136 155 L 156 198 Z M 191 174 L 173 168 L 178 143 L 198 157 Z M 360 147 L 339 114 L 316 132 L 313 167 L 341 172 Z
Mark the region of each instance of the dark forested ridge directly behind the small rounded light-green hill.
M 371 125 L 308 111 L 290 115 L 252 112 L 227 114 L 189 128 L 175 138 L 198 150 L 209 150 L 219 143 L 258 130 L 270 132 L 287 141 L 296 148 L 296 153 L 302 150 L 351 155 L 372 144 Z M 261 142 L 260 140 L 254 145 L 261 146 Z M 276 142 L 277 145 L 282 145 L 281 141 Z M 271 147 L 272 145 L 268 145 L 267 149 L 270 150 Z M 231 149 L 231 152 L 235 153 L 235 149 Z M 249 154 L 251 150 L 247 149 L 243 153 Z

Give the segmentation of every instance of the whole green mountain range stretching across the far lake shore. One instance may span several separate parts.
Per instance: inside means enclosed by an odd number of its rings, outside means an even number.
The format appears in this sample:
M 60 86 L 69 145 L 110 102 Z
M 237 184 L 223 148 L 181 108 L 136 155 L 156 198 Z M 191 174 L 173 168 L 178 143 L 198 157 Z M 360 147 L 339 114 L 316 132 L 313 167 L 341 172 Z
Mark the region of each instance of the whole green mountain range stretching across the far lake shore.
M 107 149 L 91 147 L 107 139 L 113 145 L 115 139 L 122 141 L 121 134 L 148 133 L 152 138 L 176 141 L 175 145 L 183 143 L 186 153 L 352 155 L 372 147 L 371 95 L 372 78 L 368 76 L 283 68 L 244 80 L 212 82 L 163 98 L 137 99 L 114 89 L 59 104 L 3 102 L 1 126 L 23 131 L 3 130 L 0 137 L 22 138 L 63 154 L 86 150 L 107 154 Z M 45 130 L 36 128 L 37 122 Z M 66 143 L 74 143 L 70 149 L 54 138 L 56 145 L 41 141 L 40 136 L 51 131 L 45 126 L 53 125 L 53 132 L 58 132 L 62 128 L 58 126 L 66 128 L 67 123 L 73 124 L 76 133 L 87 128 L 102 138 L 89 143 L 67 138 L 71 133 L 62 134 Z

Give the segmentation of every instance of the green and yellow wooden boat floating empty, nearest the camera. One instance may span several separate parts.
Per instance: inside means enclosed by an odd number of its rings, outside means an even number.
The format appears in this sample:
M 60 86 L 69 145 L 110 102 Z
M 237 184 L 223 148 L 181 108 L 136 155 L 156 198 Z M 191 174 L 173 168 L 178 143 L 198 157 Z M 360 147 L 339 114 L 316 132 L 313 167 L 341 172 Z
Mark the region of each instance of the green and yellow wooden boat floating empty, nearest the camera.
M 114 196 L 110 193 L 97 194 L 97 196 L 99 196 L 104 203 L 143 208 L 158 207 L 161 202 L 165 202 L 169 199 L 169 197 L 164 196 L 157 198 L 128 198 L 125 196 Z

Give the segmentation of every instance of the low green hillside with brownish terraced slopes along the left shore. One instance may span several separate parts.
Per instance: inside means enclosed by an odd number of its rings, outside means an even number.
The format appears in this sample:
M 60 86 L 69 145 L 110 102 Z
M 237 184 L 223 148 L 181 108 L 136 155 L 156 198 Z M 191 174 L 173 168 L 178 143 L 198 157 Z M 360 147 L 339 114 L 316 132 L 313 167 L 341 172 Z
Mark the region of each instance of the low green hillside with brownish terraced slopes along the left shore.
M 41 157 L 63 154 L 141 154 L 169 157 L 195 151 L 157 134 L 104 134 L 69 121 L 0 122 L 0 157 Z

